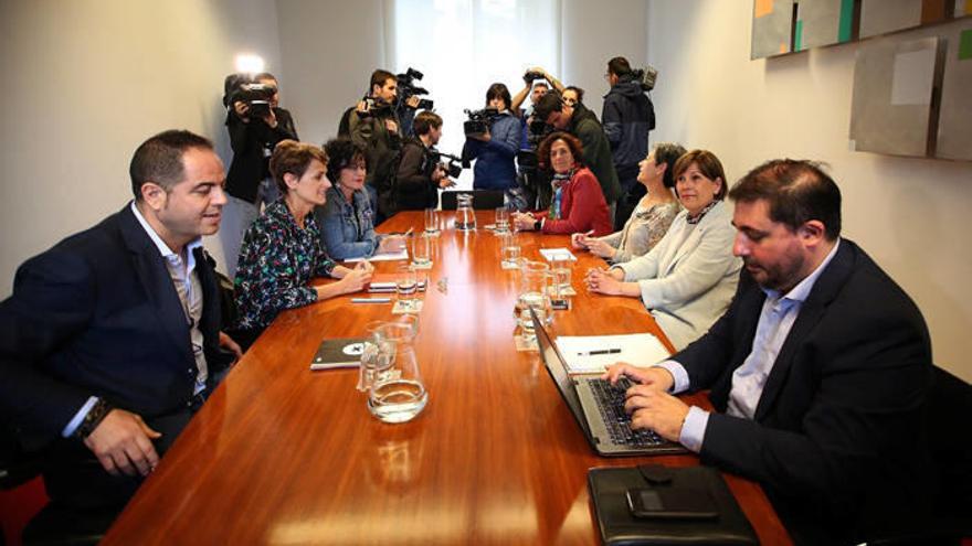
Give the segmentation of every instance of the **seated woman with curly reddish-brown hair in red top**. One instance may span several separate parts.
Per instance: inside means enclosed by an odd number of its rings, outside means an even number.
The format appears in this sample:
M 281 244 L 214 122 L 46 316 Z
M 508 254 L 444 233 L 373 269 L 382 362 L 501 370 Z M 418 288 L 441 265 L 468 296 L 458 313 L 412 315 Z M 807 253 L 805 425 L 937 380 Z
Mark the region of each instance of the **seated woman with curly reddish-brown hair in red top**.
M 541 213 L 515 213 L 514 222 L 522 231 L 539 229 L 551 234 L 611 233 L 611 213 L 601 184 L 581 157 L 583 149 L 577 137 L 554 132 L 540 142 L 537 158 L 540 167 L 553 171 L 553 201 Z

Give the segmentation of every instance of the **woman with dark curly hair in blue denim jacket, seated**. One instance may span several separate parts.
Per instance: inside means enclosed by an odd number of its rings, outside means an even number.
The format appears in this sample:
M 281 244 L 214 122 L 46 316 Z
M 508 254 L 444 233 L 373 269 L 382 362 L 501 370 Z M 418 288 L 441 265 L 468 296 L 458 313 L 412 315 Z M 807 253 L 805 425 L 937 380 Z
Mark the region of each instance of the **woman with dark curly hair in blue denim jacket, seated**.
M 399 251 L 405 246 L 400 235 L 374 233 L 373 210 L 364 189 L 364 148 L 349 138 L 329 140 L 327 178 L 334 186 L 327 203 L 314 211 L 321 225 L 321 243 L 334 259 L 368 258 L 376 253 Z

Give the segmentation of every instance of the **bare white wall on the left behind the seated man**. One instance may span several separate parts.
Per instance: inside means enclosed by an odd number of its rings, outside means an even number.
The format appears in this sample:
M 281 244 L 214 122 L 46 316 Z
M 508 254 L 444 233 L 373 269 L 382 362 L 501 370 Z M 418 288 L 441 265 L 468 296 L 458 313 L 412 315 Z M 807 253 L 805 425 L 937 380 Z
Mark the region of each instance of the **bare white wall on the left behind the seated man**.
M 190 129 L 228 161 L 223 76 L 239 51 L 276 69 L 276 29 L 262 0 L 0 2 L 0 298 L 24 259 L 122 208 L 147 137 Z

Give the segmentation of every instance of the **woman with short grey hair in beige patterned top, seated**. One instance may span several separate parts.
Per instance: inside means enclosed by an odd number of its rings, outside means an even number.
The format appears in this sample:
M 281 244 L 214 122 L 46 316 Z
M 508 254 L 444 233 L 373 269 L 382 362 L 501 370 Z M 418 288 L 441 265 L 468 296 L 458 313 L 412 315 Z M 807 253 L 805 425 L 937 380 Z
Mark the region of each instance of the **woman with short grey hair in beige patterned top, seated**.
M 615 264 L 628 261 L 651 250 L 668 233 L 682 206 L 672 193 L 675 162 L 685 153 L 679 144 L 663 142 L 638 163 L 637 181 L 647 190 L 638 201 L 624 228 L 604 237 L 585 233 L 571 235 L 574 248 L 585 248 Z

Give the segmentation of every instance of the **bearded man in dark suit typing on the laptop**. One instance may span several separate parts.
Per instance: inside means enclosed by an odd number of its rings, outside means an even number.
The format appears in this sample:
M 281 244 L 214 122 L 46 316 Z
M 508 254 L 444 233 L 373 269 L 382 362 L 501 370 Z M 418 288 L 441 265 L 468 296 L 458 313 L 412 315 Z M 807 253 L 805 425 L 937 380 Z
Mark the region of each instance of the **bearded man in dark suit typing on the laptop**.
M 712 329 L 670 361 L 611 378 L 633 426 L 760 482 L 797 542 L 846 542 L 921 521 L 929 474 L 920 411 L 925 320 L 857 245 L 816 164 L 775 160 L 740 180 L 733 251 L 743 279 Z M 669 393 L 711 389 L 716 413 Z

